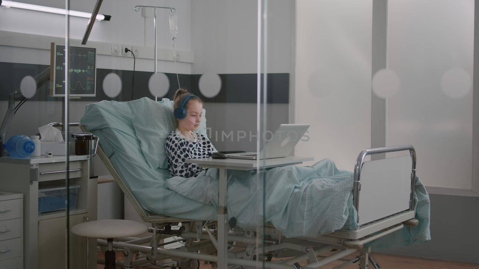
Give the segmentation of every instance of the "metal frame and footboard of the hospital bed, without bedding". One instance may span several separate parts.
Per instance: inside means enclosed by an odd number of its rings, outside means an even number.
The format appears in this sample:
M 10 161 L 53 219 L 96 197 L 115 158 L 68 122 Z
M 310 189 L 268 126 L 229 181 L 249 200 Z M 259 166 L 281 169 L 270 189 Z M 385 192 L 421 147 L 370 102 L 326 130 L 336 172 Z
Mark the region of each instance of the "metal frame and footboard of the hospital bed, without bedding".
M 213 269 L 218 268 L 219 257 L 215 247 L 218 225 L 228 225 L 225 240 L 228 241 L 229 248 L 225 253 L 226 257 L 223 257 L 228 262 L 228 268 L 313 269 L 335 260 L 344 261 L 335 268 L 355 262 L 359 262 L 360 269 L 367 269 L 369 266 L 378 268 L 369 255 L 371 248 L 367 245 L 403 229 L 404 226 L 418 224 L 418 220 L 414 218 L 413 206 L 416 154 L 414 147 L 410 145 L 365 149 L 358 155 L 354 165 L 353 189 L 357 228 L 340 229 L 315 237 L 286 238 L 270 223 L 257 229 L 243 229 L 235 225 L 234 219 L 227 224 L 218 224 L 216 219 L 201 222 L 145 209 L 145 205 L 128 188 L 125 179 L 117 171 L 118 167 L 111 161 L 117 154 L 112 143 L 113 138 L 105 135 L 104 129 L 88 130 L 83 125 L 80 128 L 100 137 L 99 157 L 143 221 L 150 224 L 148 231 L 151 236 L 115 238 L 113 247 L 125 251 L 125 260 L 117 262 L 117 266 L 124 268 L 164 259 L 178 261 L 178 265 L 183 269 L 198 268 L 199 260 L 210 264 Z M 374 154 L 391 152 L 404 152 L 406 155 L 366 160 Z M 173 229 L 176 225 L 181 227 Z M 168 237 L 181 241 L 183 247 L 162 248 L 167 244 L 162 243 L 162 239 Z M 106 247 L 107 241 L 98 239 L 98 245 Z M 359 252 L 356 257 L 343 259 L 355 252 Z M 133 259 L 134 253 L 137 253 L 136 259 Z M 306 265 L 301 266 L 300 263 Z

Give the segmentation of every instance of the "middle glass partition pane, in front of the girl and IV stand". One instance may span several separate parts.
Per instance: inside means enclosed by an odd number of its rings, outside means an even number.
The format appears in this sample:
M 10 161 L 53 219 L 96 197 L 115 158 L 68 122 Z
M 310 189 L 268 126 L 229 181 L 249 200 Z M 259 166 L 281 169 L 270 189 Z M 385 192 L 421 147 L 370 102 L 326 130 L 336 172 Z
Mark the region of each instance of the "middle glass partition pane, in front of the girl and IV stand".
M 151 244 L 200 254 L 184 258 L 131 247 L 127 241 L 132 238 L 125 235 L 112 244 L 120 264 L 226 268 L 222 257 L 248 247 L 249 265 L 255 264 L 252 249 L 261 244 L 262 233 L 256 232 L 262 219 L 235 225 L 243 217 L 257 216 L 262 208 L 261 185 L 246 185 L 250 190 L 245 193 L 235 191 L 254 178 L 255 169 L 187 160 L 209 157 L 214 151 L 257 152 L 257 7 L 255 1 L 217 0 L 102 3 L 100 13 L 111 15 L 111 20 L 95 22 L 86 44 L 98 49 L 96 95 L 70 100 L 70 120 L 75 114 L 82 131 L 100 139 L 93 158 L 100 183 L 97 219 L 146 224 L 149 233 L 131 236 L 160 233 Z M 121 20 L 124 17 L 128 20 Z M 70 35 L 72 43 L 79 38 Z M 279 77 L 287 81 L 287 76 Z M 178 89 L 188 93 L 177 94 Z M 284 106 L 284 99 L 278 104 Z M 175 114 L 181 107 L 184 118 Z M 110 175 L 116 176 L 115 182 L 103 183 L 112 180 Z M 251 197 L 257 200 L 249 201 Z M 249 209 L 244 211 L 241 204 Z M 245 225 L 255 233 L 248 244 L 228 238 L 244 233 L 239 227 Z M 108 263 L 105 239 L 98 241 L 102 253 L 90 252 L 100 263 Z M 71 251 L 70 256 L 80 257 Z

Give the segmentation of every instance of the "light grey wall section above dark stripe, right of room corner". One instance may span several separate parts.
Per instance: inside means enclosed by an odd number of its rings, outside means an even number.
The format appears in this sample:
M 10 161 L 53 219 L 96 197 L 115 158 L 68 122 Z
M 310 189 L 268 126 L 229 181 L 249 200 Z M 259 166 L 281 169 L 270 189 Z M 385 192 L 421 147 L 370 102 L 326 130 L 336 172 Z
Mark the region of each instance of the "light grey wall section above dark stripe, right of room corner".
M 269 1 L 268 23 L 271 41 L 268 73 L 289 73 L 293 0 Z M 192 1 L 193 74 L 256 73 L 258 3 L 256 0 Z

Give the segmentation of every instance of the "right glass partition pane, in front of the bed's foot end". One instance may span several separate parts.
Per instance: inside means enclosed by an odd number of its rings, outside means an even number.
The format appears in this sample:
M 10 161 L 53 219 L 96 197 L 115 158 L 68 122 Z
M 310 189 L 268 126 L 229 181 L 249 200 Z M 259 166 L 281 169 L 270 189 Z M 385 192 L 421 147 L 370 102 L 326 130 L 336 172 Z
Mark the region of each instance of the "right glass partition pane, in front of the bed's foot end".
M 472 161 L 474 1 L 264 0 L 258 8 L 258 73 L 267 78 L 258 83 L 262 98 L 258 129 L 279 131 L 279 137 L 286 133 L 280 132 L 280 123 L 309 124 L 304 134 L 297 127 L 299 139 L 289 156 L 310 157 L 292 171 L 287 166 L 271 168 L 273 159 L 259 161 L 266 170 L 258 173 L 263 188 L 259 212 L 266 216 L 263 236 L 271 236 L 268 227 L 280 223 L 273 213 L 283 204 L 278 200 L 289 199 L 285 210 L 276 214 L 290 220 L 283 232 L 304 238 L 338 229 L 361 231 L 371 222 L 407 210 L 415 210 L 418 229 L 429 234 L 429 209 L 423 211 L 429 208 L 429 196 L 417 205 L 411 193 L 477 195 Z M 276 80 L 279 74 L 286 74 L 289 83 Z M 284 113 L 271 113 L 281 107 L 276 101 L 283 97 Z M 284 139 L 293 137 L 278 138 L 281 146 L 287 145 Z M 274 141 L 274 135 L 260 136 L 260 155 L 272 154 L 261 149 Z M 400 169 L 404 175 L 397 179 L 403 181 L 391 181 Z M 381 173 L 385 174 L 377 177 Z M 273 182 L 282 182 L 281 175 L 296 185 L 289 192 L 276 192 L 283 195 L 277 199 L 272 193 L 278 183 Z M 336 189 L 340 186 L 348 186 L 351 195 L 341 198 Z M 341 204 L 346 205 L 344 211 L 330 218 L 341 221 L 329 226 L 328 213 L 322 210 L 331 213 Z M 383 249 L 392 247 L 392 236 L 399 233 L 368 246 L 388 251 Z M 341 256 L 365 268 L 369 253 L 364 248 L 349 253 L 344 246 L 333 247 L 339 250 L 332 252 L 315 250 L 300 264 L 316 268 L 327 261 L 320 256 Z M 282 252 L 274 255 L 294 256 Z

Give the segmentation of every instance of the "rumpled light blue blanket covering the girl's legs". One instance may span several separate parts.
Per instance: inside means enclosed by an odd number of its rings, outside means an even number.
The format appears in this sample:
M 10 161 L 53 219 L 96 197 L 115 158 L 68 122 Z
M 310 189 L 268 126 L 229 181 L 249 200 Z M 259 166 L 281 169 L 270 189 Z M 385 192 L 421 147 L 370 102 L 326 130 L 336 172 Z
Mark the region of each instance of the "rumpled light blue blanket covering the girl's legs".
M 228 170 L 228 178 L 228 217 L 235 217 L 240 227 L 255 228 L 264 220 L 288 237 L 312 237 L 341 229 L 348 217 L 354 219 L 353 174 L 338 170 L 329 159 L 311 167 L 285 166 L 259 173 Z M 173 177 L 167 187 L 217 208 L 217 169 L 196 178 Z

